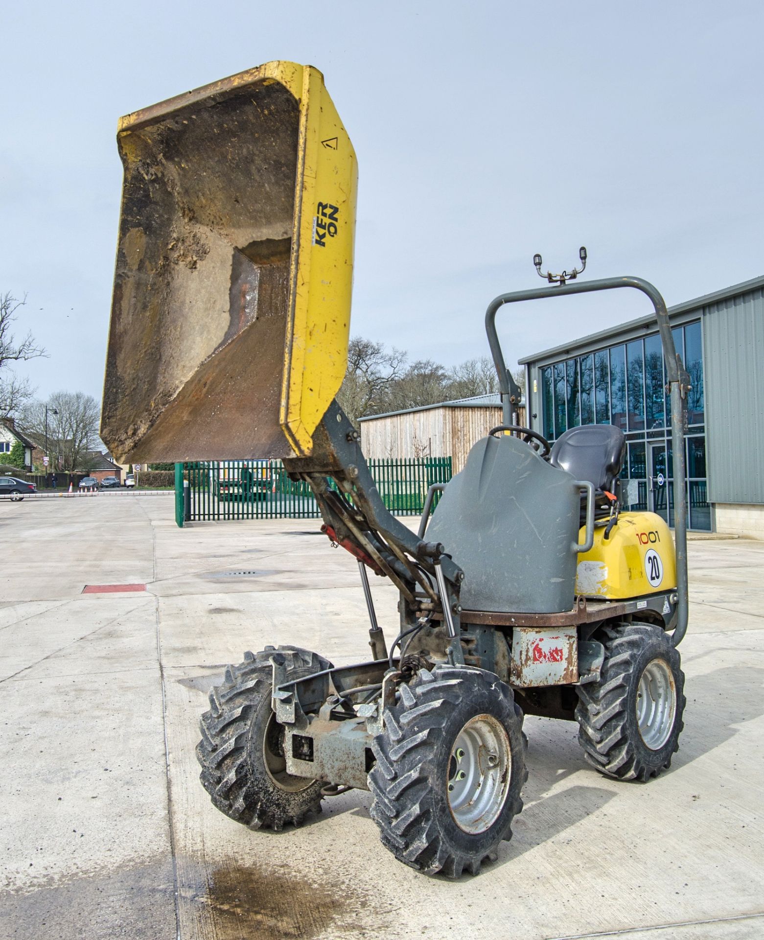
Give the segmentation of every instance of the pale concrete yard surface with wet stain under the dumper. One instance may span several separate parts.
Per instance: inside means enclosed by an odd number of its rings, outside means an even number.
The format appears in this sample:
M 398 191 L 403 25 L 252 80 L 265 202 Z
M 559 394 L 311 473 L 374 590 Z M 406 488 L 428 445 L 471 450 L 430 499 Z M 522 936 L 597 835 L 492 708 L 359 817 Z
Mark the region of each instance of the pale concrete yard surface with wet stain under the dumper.
M 282 833 L 211 806 L 197 721 L 226 664 L 269 643 L 366 659 L 366 607 L 318 520 L 179 529 L 173 509 L 0 503 L 0 938 L 764 936 L 764 542 L 690 543 L 671 770 L 608 780 L 573 724 L 526 718 L 514 837 L 450 882 L 382 847 L 366 791 Z M 83 594 L 128 583 L 147 590 Z M 397 593 L 372 590 L 389 640 Z

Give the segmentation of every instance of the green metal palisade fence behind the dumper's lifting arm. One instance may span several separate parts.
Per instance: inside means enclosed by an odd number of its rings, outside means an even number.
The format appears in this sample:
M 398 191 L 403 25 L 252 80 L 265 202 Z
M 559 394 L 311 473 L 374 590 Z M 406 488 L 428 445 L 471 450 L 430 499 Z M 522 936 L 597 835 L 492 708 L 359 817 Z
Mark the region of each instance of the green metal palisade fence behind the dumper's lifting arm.
M 372 460 L 371 476 L 387 509 L 419 515 L 432 483 L 451 478 L 450 457 Z M 437 497 L 433 508 L 437 504 Z M 175 518 L 183 522 L 226 519 L 317 519 L 319 507 L 303 480 L 291 480 L 281 461 L 177 463 Z

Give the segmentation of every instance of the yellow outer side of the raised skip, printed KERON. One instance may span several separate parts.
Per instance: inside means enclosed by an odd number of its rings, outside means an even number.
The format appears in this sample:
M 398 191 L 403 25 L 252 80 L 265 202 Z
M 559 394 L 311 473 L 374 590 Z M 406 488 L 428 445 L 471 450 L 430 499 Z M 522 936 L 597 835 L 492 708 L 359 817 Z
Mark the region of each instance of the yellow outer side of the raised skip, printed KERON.
M 303 70 L 298 147 L 279 422 L 306 456 L 348 365 L 358 183 L 351 139 L 312 66 Z

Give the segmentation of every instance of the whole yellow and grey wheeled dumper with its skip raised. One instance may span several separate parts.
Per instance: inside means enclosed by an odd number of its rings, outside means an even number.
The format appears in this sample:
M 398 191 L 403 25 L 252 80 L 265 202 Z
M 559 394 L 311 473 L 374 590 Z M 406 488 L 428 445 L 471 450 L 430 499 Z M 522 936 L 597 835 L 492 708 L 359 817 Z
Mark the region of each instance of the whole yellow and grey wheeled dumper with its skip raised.
M 685 701 L 688 379 L 658 291 L 620 277 L 493 300 L 504 423 L 473 447 L 431 522 L 429 493 L 413 533 L 385 509 L 335 401 L 356 160 L 320 72 L 270 62 L 122 118 L 117 140 L 101 437 L 122 462 L 282 458 L 315 493 L 323 531 L 358 560 L 371 624 L 365 663 L 281 646 L 226 670 L 197 748 L 213 804 L 280 829 L 323 796 L 368 790 L 382 843 L 456 878 L 496 858 L 522 808 L 523 713 L 577 721 L 606 776 L 667 769 Z M 647 295 L 663 340 L 676 551 L 660 517 L 620 509 L 621 431 L 574 428 L 550 446 L 518 427 L 496 335 L 507 305 L 620 288 Z M 400 594 L 389 648 L 369 571 Z

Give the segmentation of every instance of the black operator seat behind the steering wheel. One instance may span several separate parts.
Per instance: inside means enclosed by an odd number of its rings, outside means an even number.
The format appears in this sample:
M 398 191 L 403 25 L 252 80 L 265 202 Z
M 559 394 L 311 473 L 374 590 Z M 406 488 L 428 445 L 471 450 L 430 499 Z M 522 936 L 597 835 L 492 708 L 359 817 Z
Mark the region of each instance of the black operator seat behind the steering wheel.
M 595 489 L 595 517 L 610 512 L 616 495 L 618 474 L 626 455 L 626 436 L 610 424 L 585 424 L 560 434 L 552 446 L 549 462 L 567 470 L 576 479 L 588 480 Z M 582 507 L 582 518 L 585 511 Z M 583 523 L 582 523 L 583 525 Z

